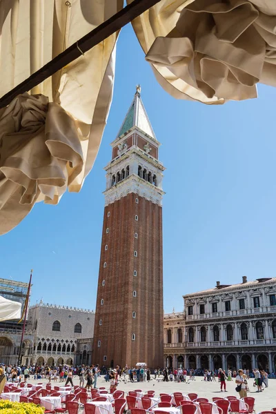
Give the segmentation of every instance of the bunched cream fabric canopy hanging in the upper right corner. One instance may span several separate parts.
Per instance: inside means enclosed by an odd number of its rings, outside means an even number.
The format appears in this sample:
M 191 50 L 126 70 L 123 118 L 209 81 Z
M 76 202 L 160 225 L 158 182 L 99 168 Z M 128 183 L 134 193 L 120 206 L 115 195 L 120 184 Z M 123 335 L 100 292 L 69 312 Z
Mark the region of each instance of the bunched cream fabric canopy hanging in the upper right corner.
M 257 97 L 257 82 L 276 86 L 275 0 L 163 0 L 132 26 L 177 99 L 220 104 Z

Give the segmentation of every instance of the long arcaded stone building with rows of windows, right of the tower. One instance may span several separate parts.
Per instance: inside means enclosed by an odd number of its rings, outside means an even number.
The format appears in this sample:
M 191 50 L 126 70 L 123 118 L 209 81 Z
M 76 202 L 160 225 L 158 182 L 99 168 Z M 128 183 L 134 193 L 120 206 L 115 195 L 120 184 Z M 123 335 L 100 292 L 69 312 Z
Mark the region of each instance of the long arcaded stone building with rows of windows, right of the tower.
M 221 285 L 184 295 L 183 342 L 168 340 L 165 357 L 187 368 L 264 368 L 276 371 L 276 278 Z

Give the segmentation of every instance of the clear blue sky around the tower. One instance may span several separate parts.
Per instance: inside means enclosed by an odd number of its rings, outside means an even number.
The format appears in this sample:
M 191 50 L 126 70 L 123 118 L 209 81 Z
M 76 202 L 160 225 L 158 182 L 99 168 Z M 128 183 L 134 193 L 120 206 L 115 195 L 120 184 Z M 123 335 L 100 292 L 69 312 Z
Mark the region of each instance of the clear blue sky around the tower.
M 115 90 L 95 166 L 81 193 L 37 204 L 0 239 L 1 277 L 28 281 L 31 303 L 95 309 L 105 173 L 126 111 L 141 84 L 164 173 L 164 309 L 221 283 L 274 277 L 276 89 L 224 106 L 179 101 L 159 86 L 131 26 L 117 45 Z

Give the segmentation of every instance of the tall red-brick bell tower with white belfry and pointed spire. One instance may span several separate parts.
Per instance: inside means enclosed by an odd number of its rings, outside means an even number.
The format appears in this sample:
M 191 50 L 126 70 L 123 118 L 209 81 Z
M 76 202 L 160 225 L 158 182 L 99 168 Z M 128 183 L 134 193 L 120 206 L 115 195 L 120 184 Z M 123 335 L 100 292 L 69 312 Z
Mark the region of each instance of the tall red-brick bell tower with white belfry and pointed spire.
M 105 208 L 92 361 L 163 366 L 160 143 L 135 97 L 106 166 Z

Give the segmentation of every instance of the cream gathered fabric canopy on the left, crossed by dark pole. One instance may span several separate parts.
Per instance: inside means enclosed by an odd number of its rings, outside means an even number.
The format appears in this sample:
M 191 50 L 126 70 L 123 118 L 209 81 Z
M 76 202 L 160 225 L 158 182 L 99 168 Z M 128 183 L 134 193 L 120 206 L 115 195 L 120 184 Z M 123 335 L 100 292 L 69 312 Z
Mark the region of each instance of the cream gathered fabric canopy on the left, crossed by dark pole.
M 8 92 L 123 7 L 123 0 L 1 0 L 0 92 Z M 0 110 L 0 234 L 36 201 L 78 192 L 103 134 L 115 70 L 113 34 Z

